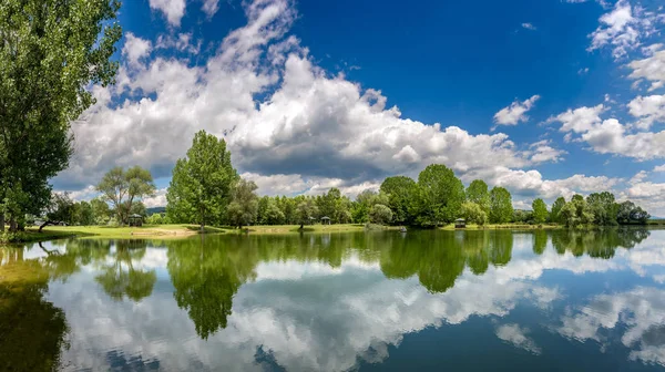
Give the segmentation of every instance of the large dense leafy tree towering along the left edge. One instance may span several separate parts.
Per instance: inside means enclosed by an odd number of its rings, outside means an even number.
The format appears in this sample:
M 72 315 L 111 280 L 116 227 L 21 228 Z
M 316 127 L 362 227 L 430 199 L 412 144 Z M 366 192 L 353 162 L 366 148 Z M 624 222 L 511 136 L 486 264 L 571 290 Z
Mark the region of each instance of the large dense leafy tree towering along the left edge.
M 0 4 L 0 229 L 49 203 L 49 178 L 72 155 L 70 122 L 114 82 L 117 0 L 2 0 Z

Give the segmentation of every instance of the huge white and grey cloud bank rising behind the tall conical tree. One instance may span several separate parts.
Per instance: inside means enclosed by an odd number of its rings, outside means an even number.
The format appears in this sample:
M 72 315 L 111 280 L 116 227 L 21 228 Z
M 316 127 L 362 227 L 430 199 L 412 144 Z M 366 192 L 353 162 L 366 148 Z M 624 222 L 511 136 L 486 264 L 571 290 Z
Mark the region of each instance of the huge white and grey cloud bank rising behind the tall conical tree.
M 167 177 L 202 128 L 225 137 L 234 165 L 267 193 L 335 186 L 352 195 L 389 175 L 416 176 L 431 163 L 462 175 L 561 159 L 551 143 L 520 146 L 503 133 L 473 135 L 402 117 L 380 91 L 330 75 L 297 38 L 286 37 L 296 18 L 290 6 L 245 4 L 247 24 L 204 64 L 162 55 L 196 51 L 200 43 L 187 33 L 158 37 L 146 63 L 140 56 L 124 63 L 117 84 L 95 87 L 98 104 L 73 125 L 75 155 L 57 187 L 93 184 L 115 165 L 139 164 Z M 508 116 L 525 120 L 535 100 L 515 103 Z M 290 186 L 278 187 L 280 177 Z

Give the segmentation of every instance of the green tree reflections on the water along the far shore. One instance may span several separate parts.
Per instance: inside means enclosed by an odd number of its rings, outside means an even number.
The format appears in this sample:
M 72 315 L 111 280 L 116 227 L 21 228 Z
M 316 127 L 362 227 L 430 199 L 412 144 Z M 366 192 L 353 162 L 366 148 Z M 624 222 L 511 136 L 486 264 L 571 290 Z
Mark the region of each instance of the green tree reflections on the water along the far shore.
M 13 350 L 12 345 L 34 342 L 27 335 L 33 333 L 14 331 L 18 328 L 12 326 L 28 321 L 28 318 L 17 319 L 18 314 L 34 313 L 34 327 L 48 328 L 35 332 L 51 339 L 40 338 L 45 343 L 12 353 L 51 355 L 23 358 L 25 362 L 57 360 L 54 350 L 60 348 L 66 326 L 62 311 L 43 301 L 42 294 L 49 280 L 66 280 L 83 266 L 93 268 L 99 288 L 115 301 L 141 301 L 149 297 L 157 280 L 155 269 L 142 265 L 149 248 L 166 249 L 173 298 L 187 311 L 197 334 L 207 339 L 226 328 L 234 296 L 244 283 L 256 278 L 256 268 L 262 262 L 295 260 L 338 268 L 354 257 L 368 265 L 378 264 L 387 278 L 416 277 L 429 292 L 442 293 L 454 286 L 466 268 L 481 276 L 491 266 L 508 265 L 514 240 L 529 241 L 524 240 L 524 235 L 531 235 L 536 255 L 554 249 L 561 255 L 611 258 L 617 248 L 631 249 L 646 239 L 649 231 L 634 228 L 528 232 L 424 230 L 408 234 L 221 235 L 163 241 L 72 239 L 34 245 L 32 249 L 44 254 L 30 260 L 22 258 L 24 249 L 0 248 L 0 334 L 3 335 L 0 352 Z M 18 272 L 13 278 L 23 282 L 19 286 L 21 290 L 12 290 L 16 285 L 8 287 L 11 281 L 6 278 L 12 277 L 8 272 Z M 24 341 L 16 339 L 22 337 Z M 12 338 L 13 341 L 8 341 Z

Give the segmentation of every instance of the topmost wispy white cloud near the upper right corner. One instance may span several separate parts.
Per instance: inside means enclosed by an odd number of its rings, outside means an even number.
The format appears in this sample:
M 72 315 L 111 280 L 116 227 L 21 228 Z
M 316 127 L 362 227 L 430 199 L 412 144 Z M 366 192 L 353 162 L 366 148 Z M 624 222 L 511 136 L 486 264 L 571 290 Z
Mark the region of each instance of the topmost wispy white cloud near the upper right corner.
M 658 18 L 641 7 L 632 7 L 627 0 L 618 0 L 614 9 L 601 16 L 601 25 L 589 37 L 589 51 L 612 48 L 612 55 L 620 59 L 641 45 L 642 39 L 656 32 Z

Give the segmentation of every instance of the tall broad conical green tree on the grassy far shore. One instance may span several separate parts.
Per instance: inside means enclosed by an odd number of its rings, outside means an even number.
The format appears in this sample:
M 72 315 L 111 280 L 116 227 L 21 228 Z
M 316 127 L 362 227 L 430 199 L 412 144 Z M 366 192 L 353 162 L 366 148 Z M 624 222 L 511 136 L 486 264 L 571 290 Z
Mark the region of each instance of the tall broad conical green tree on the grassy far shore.
M 238 175 L 226 142 L 205 131 L 194 135 L 187 156 L 175 164 L 166 192 L 166 211 L 177 223 L 218 223 L 229 203 Z

